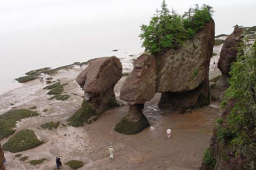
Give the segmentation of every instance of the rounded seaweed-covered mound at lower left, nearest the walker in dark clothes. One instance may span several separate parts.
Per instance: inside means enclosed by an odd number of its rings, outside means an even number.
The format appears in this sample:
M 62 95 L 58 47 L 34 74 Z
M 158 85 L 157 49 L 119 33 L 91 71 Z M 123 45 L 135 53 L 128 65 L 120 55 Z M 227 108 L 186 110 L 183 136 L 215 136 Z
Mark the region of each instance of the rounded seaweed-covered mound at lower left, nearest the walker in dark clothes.
M 25 129 L 16 133 L 7 143 L 3 144 L 3 150 L 16 153 L 36 148 L 43 143 L 38 140 L 33 130 Z

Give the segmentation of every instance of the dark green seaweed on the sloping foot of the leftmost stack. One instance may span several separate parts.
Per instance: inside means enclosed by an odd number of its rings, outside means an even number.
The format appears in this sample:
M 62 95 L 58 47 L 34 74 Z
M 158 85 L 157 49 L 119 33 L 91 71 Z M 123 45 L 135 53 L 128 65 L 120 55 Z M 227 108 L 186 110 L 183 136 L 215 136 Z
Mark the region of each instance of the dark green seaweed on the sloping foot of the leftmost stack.
M 67 119 L 68 125 L 73 127 L 84 126 L 97 119 L 96 112 L 89 106 L 86 100 L 83 100 L 82 107 Z

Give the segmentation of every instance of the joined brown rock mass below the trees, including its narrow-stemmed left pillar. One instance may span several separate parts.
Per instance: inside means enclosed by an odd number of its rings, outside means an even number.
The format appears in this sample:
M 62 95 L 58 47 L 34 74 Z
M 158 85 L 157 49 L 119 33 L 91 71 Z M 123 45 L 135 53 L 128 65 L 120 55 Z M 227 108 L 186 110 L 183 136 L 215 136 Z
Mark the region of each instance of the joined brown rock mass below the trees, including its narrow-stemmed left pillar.
M 157 55 L 142 55 L 134 62 L 134 69 L 122 85 L 120 99 L 129 103 L 127 115 L 115 130 L 130 134 L 134 123 L 143 117 L 146 101 L 161 92 L 161 108 L 203 106 L 209 104 L 209 65 L 214 46 L 214 21 L 187 40 L 178 50 L 168 50 Z M 143 121 L 144 123 L 145 121 Z M 138 131 L 148 124 L 137 126 Z

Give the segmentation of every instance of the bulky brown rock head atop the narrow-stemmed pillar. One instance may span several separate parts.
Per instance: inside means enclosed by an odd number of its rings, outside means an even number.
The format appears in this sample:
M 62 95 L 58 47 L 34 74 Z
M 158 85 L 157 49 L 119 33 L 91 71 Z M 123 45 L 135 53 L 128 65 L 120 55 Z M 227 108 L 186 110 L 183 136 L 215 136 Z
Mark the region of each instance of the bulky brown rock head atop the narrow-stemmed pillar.
M 120 99 L 129 104 L 144 104 L 155 96 L 157 68 L 153 56 L 141 55 L 124 81 Z

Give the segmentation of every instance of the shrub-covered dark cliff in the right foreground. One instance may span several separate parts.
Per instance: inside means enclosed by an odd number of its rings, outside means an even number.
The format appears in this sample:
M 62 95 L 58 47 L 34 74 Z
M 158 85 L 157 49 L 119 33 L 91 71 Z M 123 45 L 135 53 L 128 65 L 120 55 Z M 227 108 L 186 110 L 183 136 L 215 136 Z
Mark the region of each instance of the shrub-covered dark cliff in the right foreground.
M 256 42 L 249 47 L 246 35 L 243 37 L 238 46 L 237 62 L 231 66 L 230 87 L 221 104 L 226 107 L 227 118 L 215 126 L 218 140 L 215 148 L 220 149 L 214 152 L 218 155 L 215 157 L 217 164 L 225 157 L 226 165 L 237 159 L 240 163 L 236 164 L 243 169 L 253 170 L 256 167 Z

